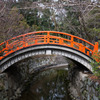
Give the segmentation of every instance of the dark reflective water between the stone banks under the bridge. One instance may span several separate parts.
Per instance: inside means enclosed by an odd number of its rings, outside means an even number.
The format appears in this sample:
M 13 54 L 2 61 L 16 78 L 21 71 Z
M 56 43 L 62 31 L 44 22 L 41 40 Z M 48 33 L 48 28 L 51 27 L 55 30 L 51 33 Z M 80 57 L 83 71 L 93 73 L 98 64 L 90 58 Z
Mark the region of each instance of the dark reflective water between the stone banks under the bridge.
M 36 75 L 18 100 L 72 100 L 67 70 L 47 70 Z

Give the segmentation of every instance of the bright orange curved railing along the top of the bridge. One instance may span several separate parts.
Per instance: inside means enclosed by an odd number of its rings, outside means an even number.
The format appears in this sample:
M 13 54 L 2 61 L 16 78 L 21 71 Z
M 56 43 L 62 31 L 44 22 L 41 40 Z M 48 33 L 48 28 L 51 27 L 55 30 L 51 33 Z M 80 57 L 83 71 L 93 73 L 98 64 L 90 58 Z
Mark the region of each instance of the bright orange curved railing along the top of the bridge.
M 0 60 L 19 49 L 40 44 L 67 46 L 83 52 L 88 56 L 98 51 L 98 42 L 92 44 L 82 38 L 63 32 L 39 31 L 20 35 L 1 43 Z

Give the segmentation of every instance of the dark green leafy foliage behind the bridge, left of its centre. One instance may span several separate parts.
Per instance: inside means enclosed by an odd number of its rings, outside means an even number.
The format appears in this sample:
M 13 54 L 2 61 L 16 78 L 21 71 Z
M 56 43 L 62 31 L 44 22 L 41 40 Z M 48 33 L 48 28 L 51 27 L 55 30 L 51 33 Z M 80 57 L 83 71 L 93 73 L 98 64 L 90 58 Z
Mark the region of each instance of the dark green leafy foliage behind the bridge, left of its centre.
M 41 12 L 37 9 L 20 10 L 20 13 L 25 17 L 27 24 L 32 29 L 31 31 L 51 30 L 53 28 L 49 9 L 44 9 Z

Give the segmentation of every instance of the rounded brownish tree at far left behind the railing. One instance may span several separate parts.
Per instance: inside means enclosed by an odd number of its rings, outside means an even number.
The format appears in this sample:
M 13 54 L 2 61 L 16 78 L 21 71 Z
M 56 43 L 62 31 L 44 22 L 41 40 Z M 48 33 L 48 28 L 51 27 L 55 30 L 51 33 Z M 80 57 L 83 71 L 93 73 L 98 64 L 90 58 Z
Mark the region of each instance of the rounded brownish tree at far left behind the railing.
M 29 25 L 16 7 L 12 8 L 11 11 L 6 9 L 5 14 L 0 18 L 0 42 L 29 31 Z

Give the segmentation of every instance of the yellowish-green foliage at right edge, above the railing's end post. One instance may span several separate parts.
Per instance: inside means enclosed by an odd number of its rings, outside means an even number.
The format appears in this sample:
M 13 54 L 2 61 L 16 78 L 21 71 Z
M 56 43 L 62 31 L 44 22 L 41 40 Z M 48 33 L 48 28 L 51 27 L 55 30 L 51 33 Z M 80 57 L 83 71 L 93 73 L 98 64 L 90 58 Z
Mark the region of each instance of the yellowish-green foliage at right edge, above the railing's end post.
M 88 16 L 85 17 L 85 22 L 92 40 L 95 36 L 100 38 L 100 7 L 95 7 L 91 10 Z

